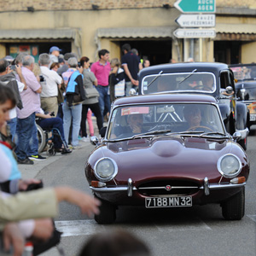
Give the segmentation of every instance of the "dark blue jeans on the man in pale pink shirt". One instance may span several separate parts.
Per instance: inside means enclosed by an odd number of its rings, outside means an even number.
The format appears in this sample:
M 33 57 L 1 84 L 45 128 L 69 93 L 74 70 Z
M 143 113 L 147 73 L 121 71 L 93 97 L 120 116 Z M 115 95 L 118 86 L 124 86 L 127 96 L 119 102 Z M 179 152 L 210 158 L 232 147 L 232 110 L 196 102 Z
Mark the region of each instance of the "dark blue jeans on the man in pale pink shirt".
M 27 156 L 38 154 L 38 130 L 35 121 L 35 113 L 26 119 L 17 121 L 18 144 L 16 154 L 18 159 L 25 160 Z

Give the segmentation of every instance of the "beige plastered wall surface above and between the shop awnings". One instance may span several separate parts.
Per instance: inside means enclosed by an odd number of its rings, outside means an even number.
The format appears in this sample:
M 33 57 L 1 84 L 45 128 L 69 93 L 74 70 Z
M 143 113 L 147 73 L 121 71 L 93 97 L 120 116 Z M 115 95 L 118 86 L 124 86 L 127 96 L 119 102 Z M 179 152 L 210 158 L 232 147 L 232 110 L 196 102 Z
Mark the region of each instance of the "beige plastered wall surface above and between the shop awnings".
M 173 8 L 173 3 L 175 2 L 176 0 L 0 0 L 0 29 L 40 30 L 79 28 L 81 29 L 82 35 L 81 55 L 87 55 L 90 61 L 96 61 L 96 30 L 98 28 L 178 27 L 175 20 L 181 13 Z M 216 0 L 216 3 L 217 9 L 229 7 L 237 9 L 256 9 L 255 0 Z M 92 4 L 97 5 L 98 10 L 93 10 Z M 166 4 L 171 8 L 163 8 L 163 5 Z M 34 11 L 27 11 L 28 7 L 32 7 Z M 256 18 L 241 15 L 217 15 L 216 23 L 256 25 Z M 109 49 L 110 56 L 113 58 L 120 57 L 120 44 L 124 44 L 130 40 L 133 40 L 133 38 L 127 38 L 127 40 L 120 43 L 120 41 L 115 41 L 112 38 L 100 38 L 99 43 L 102 49 Z M 183 55 L 183 39 L 177 39 L 177 41 L 172 42 L 172 56 L 178 60 L 178 51 Z M 0 57 L 3 57 L 6 55 L 6 51 L 4 43 L 1 43 Z M 53 42 L 53 45 L 57 45 L 57 43 Z M 72 45 L 73 51 L 77 51 L 74 44 Z M 203 39 L 202 45 L 203 61 L 214 61 L 213 41 Z M 253 45 L 253 43 L 245 44 L 241 47 L 243 60 L 252 61 L 252 59 L 255 59 L 250 53 L 253 48 L 253 46 L 250 45 Z M 199 61 L 200 53 L 198 47 L 198 40 L 195 39 L 195 61 Z M 181 61 L 183 61 L 183 59 Z

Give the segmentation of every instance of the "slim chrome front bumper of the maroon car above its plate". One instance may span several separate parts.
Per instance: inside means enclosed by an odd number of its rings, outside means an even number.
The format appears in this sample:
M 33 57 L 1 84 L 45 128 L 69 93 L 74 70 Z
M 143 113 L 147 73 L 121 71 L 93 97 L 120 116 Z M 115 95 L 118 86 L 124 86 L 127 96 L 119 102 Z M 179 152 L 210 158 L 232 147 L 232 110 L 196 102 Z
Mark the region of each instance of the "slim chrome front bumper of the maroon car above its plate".
M 204 185 L 201 187 L 185 187 L 185 186 L 173 186 L 172 189 L 202 189 L 205 192 L 205 195 L 210 195 L 210 190 L 214 189 L 234 189 L 234 188 L 240 188 L 245 186 L 246 183 L 240 183 L 240 184 L 220 184 L 220 183 L 209 183 L 208 178 L 204 178 Z M 102 187 L 102 188 L 94 188 L 90 186 L 90 189 L 94 192 L 123 192 L 126 191 L 128 196 L 132 196 L 133 191 L 139 191 L 141 189 L 137 189 L 132 185 L 132 180 L 131 178 L 128 179 L 127 186 L 117 186 L 117 187 Z M 142 188 L 144 189 L 166 189 L 166 187 L 148 187 L 148 188 Z

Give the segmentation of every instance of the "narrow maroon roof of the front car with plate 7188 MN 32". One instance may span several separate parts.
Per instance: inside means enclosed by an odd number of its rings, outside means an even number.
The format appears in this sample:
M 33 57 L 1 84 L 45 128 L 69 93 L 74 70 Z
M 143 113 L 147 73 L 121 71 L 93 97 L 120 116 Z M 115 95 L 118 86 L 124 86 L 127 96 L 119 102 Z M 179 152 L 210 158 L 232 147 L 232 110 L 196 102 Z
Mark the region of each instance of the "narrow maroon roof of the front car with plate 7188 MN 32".
M 113 102 L 113 106 L 141 103 L 160 103 L 160 102 L 206 102 L 216 103 L 212 96 L 198 94 L 151 94 L 140 96 L 126 96 Z

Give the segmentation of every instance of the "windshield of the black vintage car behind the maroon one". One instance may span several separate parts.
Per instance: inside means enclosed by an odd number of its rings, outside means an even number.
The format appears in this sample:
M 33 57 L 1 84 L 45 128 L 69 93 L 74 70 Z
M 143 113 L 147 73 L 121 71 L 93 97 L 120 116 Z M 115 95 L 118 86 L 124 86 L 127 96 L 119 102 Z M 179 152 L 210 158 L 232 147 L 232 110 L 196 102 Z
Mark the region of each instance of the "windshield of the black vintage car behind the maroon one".
M 202 91 L 212 93 L 216 90 L 216 79 L 213 73 L 159 73 L 143 78 L 143 94 L 169 91 Z

